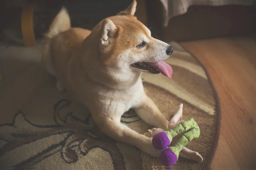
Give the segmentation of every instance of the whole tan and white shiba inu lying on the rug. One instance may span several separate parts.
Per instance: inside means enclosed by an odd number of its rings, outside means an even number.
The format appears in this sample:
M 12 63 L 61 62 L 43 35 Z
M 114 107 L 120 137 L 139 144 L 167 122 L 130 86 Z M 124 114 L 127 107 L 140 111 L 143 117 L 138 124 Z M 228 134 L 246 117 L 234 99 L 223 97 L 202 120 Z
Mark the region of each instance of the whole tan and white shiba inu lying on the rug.
M 167 129 L 169 124 L 145 94 L 141 74 L 171 78 L 172 68 L 163 60 L 174 49 L 151 37 L 134 16 L 136 4 L 102 20 L 92 31 L 71 28 L 62 8 L 46 33 L 42 62 L 56 77 L 58 90 L 66 89 L 85 105 L 102 133 L 157 157 L 161 151 L 154 149 L 152 138 L 120 123 L 122 114 L 133 108 L 150 125 Z

